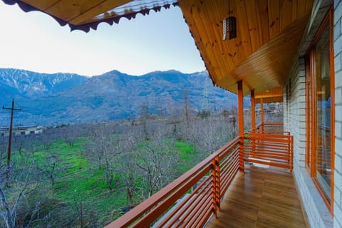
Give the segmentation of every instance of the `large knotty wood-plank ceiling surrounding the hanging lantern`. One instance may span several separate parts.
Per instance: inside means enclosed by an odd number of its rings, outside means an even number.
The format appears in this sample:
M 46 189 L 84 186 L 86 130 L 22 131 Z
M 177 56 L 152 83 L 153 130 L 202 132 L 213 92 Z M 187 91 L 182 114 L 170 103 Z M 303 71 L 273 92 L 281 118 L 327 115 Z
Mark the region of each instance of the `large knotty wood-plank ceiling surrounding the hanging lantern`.
M 244 94 L 284 86 L 311 14 L 312 0 L 230 0 L 237 38 L 222 40 L 226 0 L 180 0 L 185 21 L 215 85 Z

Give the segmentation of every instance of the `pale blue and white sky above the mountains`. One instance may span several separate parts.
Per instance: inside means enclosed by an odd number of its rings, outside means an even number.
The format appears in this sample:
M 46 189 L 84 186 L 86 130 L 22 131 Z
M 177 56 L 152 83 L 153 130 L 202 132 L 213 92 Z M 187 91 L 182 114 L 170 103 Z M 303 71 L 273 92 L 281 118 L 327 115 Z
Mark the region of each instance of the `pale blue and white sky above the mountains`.
M 203 71 L 179 7 L 171 6 L 89 33 L 70 31 L 41 12 L 24 13 L 0 1 L 0 68 L 96 76 L 118 70 L 132 75 L 175 69 Z

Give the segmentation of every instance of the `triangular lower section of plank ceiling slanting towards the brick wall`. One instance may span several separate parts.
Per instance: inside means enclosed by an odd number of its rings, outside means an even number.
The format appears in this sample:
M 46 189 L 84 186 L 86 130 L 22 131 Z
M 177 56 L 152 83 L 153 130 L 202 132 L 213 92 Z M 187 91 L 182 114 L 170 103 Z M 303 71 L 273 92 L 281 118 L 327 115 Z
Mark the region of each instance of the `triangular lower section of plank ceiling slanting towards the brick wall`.
M 301 36 L 306 26 L 306 17 L 297 20 L 291 26 L 272 38 L 268 43 L 249 56 L 243 63 L 234 68 L 231 75 L 240 78 L 254 88 L 256 92 L 283 86 L 286 76 L 291 68 L 296 48 L 299 46 Z M 237 86 L 229 86 L 228 78 L 217 81 L 217 86 L 237 91 Z

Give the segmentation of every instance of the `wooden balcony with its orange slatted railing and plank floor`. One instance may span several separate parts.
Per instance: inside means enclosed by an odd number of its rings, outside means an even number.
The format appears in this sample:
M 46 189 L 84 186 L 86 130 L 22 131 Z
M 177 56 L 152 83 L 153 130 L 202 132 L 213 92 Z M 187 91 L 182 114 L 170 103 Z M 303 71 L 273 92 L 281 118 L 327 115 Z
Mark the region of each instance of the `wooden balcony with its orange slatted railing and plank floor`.
M 234 138 L 107 227 L 305 227 L 291 174 L 293 137 L 264 127 Z

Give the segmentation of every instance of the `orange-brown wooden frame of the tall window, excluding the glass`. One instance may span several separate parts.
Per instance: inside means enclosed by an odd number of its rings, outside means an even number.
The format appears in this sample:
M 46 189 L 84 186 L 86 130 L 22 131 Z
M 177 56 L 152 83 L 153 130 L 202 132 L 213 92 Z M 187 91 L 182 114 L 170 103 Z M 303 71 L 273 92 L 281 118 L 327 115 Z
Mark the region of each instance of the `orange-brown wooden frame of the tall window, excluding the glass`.
M 330 46 L 330 76 L 331 76 L 331 182 L 330 182 L 330 199 L 326 197 L 326 194 L 321 189 L 320 184 L 316 180 L 316 138 L 317 138 L 317 86 L 316 86 L 316 63 L 314 58 L 314 48 L 318 42 L 318 39 L 321 37 L 321 33 L 323 32 L 326 25 L 329 24 L 329 46 Z M 306 70 L 306 155 L 305 155 L 305 165 L 306 169 L 309 172 L 314 184 L 318 192 L 320 193 L 323 201 L 328 207 L 331 214 L 333 214 L 333 170 L 335 166 L 335 71 L 334 71 L 334 61 L 333 61 L 333 6 L 328 10 L 323 22 L 316 35 L 314 36 L 314 40 L 311 43 L 311 46 L 308 48 L 306 52 L 305 58 L 305 70 Z M 308 90 L 310 90 L 311 94 L 308 94 Z M 310 97 L 311 96 L 311 97 Z M 311 113 L 311 115 L 310 115 Z

